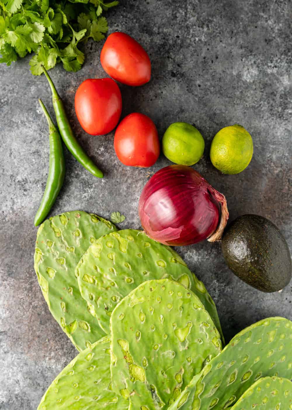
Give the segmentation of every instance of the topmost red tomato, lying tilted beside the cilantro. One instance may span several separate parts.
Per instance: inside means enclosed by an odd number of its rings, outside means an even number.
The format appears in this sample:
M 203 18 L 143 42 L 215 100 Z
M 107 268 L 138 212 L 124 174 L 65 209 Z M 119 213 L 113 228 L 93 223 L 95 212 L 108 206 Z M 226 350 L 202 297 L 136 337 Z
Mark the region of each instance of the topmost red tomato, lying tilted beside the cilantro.
M 123 84 L 137 86 L 150 80 L 149 56 L 128 34 L 110 34 L 101 50 L 100 61 L 104 71 Z

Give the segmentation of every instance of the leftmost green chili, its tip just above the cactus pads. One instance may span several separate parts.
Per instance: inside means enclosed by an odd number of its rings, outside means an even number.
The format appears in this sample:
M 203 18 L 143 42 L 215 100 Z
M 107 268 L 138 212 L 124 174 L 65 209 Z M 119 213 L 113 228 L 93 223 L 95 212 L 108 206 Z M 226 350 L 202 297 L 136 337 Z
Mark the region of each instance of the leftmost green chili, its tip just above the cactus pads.
M 51 210 L 65 177 L 65 159 L 60 134 L 42 100 L 38 100 L 49 124 L 49 173 L 42 202 L 36 212 L 34 225 L 38 226 Z

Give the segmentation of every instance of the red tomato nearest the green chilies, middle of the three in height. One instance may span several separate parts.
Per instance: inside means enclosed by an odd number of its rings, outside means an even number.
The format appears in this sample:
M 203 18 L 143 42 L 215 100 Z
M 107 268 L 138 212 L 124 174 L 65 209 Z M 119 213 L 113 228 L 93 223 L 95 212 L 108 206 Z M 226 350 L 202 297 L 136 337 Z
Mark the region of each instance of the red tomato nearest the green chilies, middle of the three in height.
M 121 109 L 121 91 L 111 78 L 88 78 L 76 91 L 76 115 L 88 134 L 101 135 L 112 131 L 119 122 Z

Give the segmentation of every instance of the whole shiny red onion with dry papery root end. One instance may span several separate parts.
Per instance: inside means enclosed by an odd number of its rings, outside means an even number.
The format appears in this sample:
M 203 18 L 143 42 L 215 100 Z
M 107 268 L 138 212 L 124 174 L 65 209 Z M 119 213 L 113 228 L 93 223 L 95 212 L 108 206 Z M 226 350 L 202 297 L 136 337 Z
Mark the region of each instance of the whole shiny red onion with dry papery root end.
M 225 196 L 202 175 L 189 166 L 170 165 L 143 188 L 139 217 L 150 238 L 181 246 L 221 239 L 229 213 Z

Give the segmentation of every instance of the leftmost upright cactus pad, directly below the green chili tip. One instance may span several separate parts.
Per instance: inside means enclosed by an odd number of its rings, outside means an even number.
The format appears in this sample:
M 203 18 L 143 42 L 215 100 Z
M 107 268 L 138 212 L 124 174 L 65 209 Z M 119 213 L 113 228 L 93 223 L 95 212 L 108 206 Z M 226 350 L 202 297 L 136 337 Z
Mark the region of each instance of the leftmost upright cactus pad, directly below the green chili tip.
M 81 351 L 105 333 L 81 297 L 75 267 L 95 240 L 117 228 L 82 211 L 65 212 L 42 223 L 36 238 L 34 269 L 53 317 Z

